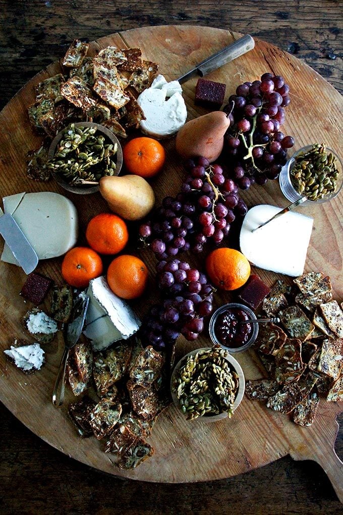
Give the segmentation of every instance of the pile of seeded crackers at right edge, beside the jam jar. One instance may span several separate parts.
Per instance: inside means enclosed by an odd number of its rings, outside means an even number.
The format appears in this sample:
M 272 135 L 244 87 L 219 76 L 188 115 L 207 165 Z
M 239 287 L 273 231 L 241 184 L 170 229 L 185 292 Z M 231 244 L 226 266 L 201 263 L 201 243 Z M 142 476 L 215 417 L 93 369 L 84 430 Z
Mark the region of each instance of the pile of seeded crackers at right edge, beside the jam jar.
M 343 401 L 342 308 L 321 272 L 294 279 L 294 287 L 277 281 L 263 311 L 279 317 L 280 325 L 260 324 L 255 343 L 269 379 L 247 381 L 247 397 L 292 414 L 301 426 L 314 422 L 320 394 Z

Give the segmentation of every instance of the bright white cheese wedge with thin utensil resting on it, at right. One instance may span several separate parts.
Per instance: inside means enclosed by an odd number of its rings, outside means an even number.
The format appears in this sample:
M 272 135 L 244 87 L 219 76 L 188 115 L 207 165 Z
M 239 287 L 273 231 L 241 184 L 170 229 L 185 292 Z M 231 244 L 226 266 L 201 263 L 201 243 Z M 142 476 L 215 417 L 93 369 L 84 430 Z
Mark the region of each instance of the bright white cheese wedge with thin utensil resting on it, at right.
M 282 208 L 274 205 L 256 205 L 245 215 L 241 233 L 241 252 L 255 266 L 301 276 L 310 243 L 313 218 L 288 212 L 257 231 L 251 232 Z

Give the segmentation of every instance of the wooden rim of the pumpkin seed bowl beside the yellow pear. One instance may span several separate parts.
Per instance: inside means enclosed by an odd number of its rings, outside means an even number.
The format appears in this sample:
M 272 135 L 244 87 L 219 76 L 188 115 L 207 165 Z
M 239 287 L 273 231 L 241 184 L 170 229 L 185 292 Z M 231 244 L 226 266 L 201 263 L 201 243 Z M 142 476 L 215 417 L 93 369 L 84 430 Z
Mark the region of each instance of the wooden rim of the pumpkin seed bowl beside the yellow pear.
M 111 143 L 113 143 L 113 144 L 116 143 L 118 145 L 118 149 L 116 152 L 116 157 L 117 157 L 116 169 L 115 169 L 114 175 L 119 175 L 119 172 L 120 172 L 122 164 L 123 164 L 123 153 L 122 153 L 121 145 L 119 143 L 117 136 L 115 134 L 113 134 L 113 132 L 110 131 L 109 129 L 107 129 L 106 127 L 103 127 L 103 125 L 96 124 L 94 122 L 78 122 L 78 123 L 75 123 L 74 125 L 75 125 L 75 127 L 96 127 L 96 129 L 99 132 L 101 132 L 104 136 L 107 136 L 107 138 L 109 138 Z M 55 156 L 57 145 L 63 138 L 64 130 L 65 129 L 61 130 L 56 135 L 56 137 L 52 140 L 52 143 L 51 143 L 51 145 L 49 147 L 49 151 L 48 151 L 48 159 L 53 159 L 53 157 Z M 52 172 L 51 175 L 56 180 L 56 182 L 58 184 L 60 184 L 60 186 L 62 186 L 65 190 L 67 190 L 70 193 L 76 193 L 77 195 L 89 195 L 90 193 L 96 193 L 99 191 L 98 184 L 95 186 L 93 186 L 92 184 L 73 185 L 73 184 L 69 184 L 68 182 L 63 180 L 59 176 L 59 174 L 54 174 Z

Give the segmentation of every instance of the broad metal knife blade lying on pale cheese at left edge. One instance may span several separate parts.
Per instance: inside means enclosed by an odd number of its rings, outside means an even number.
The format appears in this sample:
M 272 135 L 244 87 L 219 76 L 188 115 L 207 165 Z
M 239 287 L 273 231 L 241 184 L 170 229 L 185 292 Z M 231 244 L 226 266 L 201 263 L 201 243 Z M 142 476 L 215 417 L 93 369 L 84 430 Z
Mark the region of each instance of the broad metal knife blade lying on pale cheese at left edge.
M 1 208 L 0 234 L 24 272 L 26 274 L 33 272 L 38 265 L 38 255 L 13 216 L 9 213 L 4 214 Z

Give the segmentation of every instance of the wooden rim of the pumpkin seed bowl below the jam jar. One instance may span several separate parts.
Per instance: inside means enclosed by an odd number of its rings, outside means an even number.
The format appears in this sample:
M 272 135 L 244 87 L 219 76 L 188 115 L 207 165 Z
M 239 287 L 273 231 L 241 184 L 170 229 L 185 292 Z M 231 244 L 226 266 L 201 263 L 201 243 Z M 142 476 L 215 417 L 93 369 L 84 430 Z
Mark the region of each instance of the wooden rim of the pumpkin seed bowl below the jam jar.
M 183 414 L 183 412 L 181 410 L 181 406 L 180 406 L 179 400 L 178 400 L 178 398 L 176 396 L 176 393 L 174 393 L 173 386 L 172 386 L 175 374 L 176 374 L 177 370 L 182 365 L 184 365 L 184 362 L 186 361 L 188 356 L 194 356 L 199 351 L 209 350 L 209 349 L 211 349 L 211 347 L 203 347 L 201 349 L 195 349 L 195 350 L 189 352 L 188 354 L 186 354 L 184 357 L 182 357 L 180 359 L 180 361 L 176 364 L 176 366 L 175 366 L 175 368 L 173 370 L 173 373 L 172 373 L 172 376 L 171 376 L 171 381 L 170 381 L 170 391 L 171 391 L 171 396 L 172 396 L 173 402 L 174 402 L 175 406 L 180 410 L 180 413 L 182 413 L 182 415 L 184 415 L 184 414 Z M 227 354 L 227 356 L 225 356 L 225 359 L 226 359 L 226 361 L 229 362 L 231 369 L 233 369 L 233 371 L 236 372 L 237 375 L 238 375 L 238 390 L 237 390 L 237 393 L 236 393 L 236 398 L 234 399 L 234 403 L 233 403 L 233 411 L 235 411 L 238 408 L 238 406 L 241 404 L 242 399 L 244 397 L 245 378 L 244 378 L 242 367 L 238 363 L 237 359 L 234 359 L 234 357 L 230 356 L 230 354 Z M 192 422 L 196 422 L 197 420 L 200 421 L 200 422 L 205 422 L 205 423 L 207 423 L 207 422 L 216 422 L 216 421 L 222 420 L 224 418 L 227 418 L 226 411 L 224 413 L 220 413 L 218 415 L 204 415 L 203 417 L 197 417 L 196 419 L 192 420 Z

